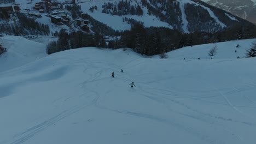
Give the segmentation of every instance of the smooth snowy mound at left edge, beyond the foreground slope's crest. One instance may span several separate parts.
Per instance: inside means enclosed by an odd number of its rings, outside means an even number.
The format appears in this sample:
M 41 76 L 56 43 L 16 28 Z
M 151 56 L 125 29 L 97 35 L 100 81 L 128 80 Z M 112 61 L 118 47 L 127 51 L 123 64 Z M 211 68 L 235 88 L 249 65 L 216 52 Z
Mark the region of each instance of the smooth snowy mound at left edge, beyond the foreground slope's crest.
M 38 58 L 45 57 L 45 44 L 36 43 L 23 37 L 0 37 L 0 43 L 8 52 L 0 55 L 0 72 L 19 67 Z

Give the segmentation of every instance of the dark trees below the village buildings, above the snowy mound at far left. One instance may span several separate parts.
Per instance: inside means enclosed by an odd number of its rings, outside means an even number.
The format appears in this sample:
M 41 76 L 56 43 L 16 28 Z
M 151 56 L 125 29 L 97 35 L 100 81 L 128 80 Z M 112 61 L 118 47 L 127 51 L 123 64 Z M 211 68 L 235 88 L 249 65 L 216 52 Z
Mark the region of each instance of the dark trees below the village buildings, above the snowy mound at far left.
M 34 21 L 23 14 L 16 14 L 18 21 L 13 24 L 2 22 L 0 32 L 6 35 L 49 35 L 50 28 L 48 25 Z

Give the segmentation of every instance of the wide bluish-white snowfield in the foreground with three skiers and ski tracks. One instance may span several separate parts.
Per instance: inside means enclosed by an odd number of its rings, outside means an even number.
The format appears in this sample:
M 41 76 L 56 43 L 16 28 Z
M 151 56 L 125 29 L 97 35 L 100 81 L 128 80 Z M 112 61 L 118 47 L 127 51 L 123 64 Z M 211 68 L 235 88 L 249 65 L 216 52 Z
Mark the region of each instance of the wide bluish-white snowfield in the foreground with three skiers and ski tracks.
M 96 47 L 45 56 L 45 44 L 0 40 L 1 144 L 255 143 L 255 58 L 236 56 L 256 39 L 217 43 L 214 59 L 215 44 L 160 59 Z

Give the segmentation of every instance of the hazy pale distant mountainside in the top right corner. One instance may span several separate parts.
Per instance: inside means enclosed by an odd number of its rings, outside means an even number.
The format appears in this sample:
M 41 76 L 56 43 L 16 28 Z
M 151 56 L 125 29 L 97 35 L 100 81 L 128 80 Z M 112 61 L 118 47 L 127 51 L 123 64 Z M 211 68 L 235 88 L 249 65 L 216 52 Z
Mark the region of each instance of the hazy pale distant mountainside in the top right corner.
M 220 9 L 256 23 L 256 1 L 252 0 L 202 0 Z

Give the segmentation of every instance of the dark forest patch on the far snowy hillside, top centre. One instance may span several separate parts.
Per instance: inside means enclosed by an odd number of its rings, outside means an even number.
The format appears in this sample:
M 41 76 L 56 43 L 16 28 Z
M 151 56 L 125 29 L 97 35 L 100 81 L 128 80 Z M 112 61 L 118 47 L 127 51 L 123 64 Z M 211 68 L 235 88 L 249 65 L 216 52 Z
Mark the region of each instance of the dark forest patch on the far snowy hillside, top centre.
M 138 3 L 137 1 L 135 1 Z M 139 5 L 131 5 L 131 1 L 122 0 L 118 3 L 105 3 L 102 5 L 102 13 L 112 15 L 143 15 L 143 10 Z

